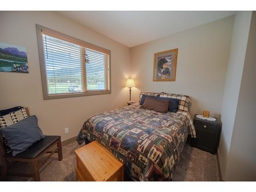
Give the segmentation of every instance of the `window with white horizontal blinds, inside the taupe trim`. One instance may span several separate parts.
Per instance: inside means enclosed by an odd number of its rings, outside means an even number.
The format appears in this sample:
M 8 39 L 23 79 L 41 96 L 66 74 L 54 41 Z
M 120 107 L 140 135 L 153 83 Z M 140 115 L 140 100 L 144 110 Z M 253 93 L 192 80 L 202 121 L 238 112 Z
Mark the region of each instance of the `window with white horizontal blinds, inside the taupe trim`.
M 44 33 L 42 38 L 49 95 L 110 90 L 109 54 Z

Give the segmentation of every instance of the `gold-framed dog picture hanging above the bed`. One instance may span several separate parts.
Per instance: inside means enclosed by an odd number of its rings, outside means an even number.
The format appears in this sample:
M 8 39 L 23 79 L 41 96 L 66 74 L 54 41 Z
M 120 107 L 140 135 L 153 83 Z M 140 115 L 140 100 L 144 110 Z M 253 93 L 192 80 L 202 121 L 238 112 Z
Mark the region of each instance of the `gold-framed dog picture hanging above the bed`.
M 175 81 L 178 49 L 154 54 L 153 81 Z

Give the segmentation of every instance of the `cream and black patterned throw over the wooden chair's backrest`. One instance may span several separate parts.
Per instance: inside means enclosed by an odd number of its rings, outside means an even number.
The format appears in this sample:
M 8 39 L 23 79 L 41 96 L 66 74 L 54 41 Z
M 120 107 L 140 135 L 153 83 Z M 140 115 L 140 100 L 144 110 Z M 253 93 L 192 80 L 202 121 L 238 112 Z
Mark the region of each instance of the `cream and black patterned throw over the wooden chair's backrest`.
M 27 118 L 27 112 L 22 106 L 15 106 L 15 108 L 0 111 L 0 127 L 9 126 L 17 123 L 20 120 Z M 11 148 L 8 146 L 8 141 L 4 139 L 4 145 L 6 153 L 11 152 Z

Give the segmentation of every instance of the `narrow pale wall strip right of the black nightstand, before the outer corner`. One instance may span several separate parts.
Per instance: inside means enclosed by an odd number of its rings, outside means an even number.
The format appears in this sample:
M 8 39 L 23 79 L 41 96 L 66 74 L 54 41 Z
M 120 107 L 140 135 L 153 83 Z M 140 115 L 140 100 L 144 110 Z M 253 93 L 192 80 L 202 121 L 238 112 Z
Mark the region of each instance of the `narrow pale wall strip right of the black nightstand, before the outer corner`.
M 219 144 L 219 159 L 224 180 L 226 163 L 232 138 L 234 120 L 244 68 L 245 53 L 250 30 L 251 11 L 240 11 L 234 17 L 233 34 L 230 45 L 229 62 L 222 100 L 222 131 Z

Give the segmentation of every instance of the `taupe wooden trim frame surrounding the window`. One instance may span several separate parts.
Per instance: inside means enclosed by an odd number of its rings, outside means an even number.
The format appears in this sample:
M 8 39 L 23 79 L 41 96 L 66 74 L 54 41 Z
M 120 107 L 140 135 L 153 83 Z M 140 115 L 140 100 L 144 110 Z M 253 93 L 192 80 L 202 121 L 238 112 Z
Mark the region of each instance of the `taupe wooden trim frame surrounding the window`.
M 48 82 L 47 82 L 47 71 L 46 71 L 46 62 L 45 62 L 45 53 L 44 53 L 44 40 L 42 34 L 50 34 L 53 37 L 66 40 L 69 42 L 73 42 L 74 44 L 99 51 L 105 54 L 109 54 L 110 60 L 109 60 L 109 76 L 106 77 L 106 81 L 108 84 L 106 84 L 106 87 L 109 86 L 109 90 L 103 90 L 103 91 L 85 91 L 85 92 L 76 92 L 76 93 L 62 93 L 62 94 L 48 94 Z M 42 93 L 44 96 L 44 99 L 58 99 L 58 98 L 69 98 L 69 97 L 80 97 L 80 96 L 90 96 L 90 95 L 103 95 L 103 94 L 111 94 L 111 51 L 108 49 L 104 49 L 102 47 L 90 44 L 90 42 L 86 42 L 83 40 L 80 40 L 78 38 L 60 33 L 58 31 L 49 29 L 44 26 L 40 26 L 36 24 L 36 34 L 37 34 L 37 44 L 38 44 L 38 53 L 39 53 L 39 63 L 40 63 L 40 71 L 41 71 L 41 81 L 42 81 Z M 86 77 L 82 77 L 86 78 Z M 83 82 L 84 83 L 84 82 Z

